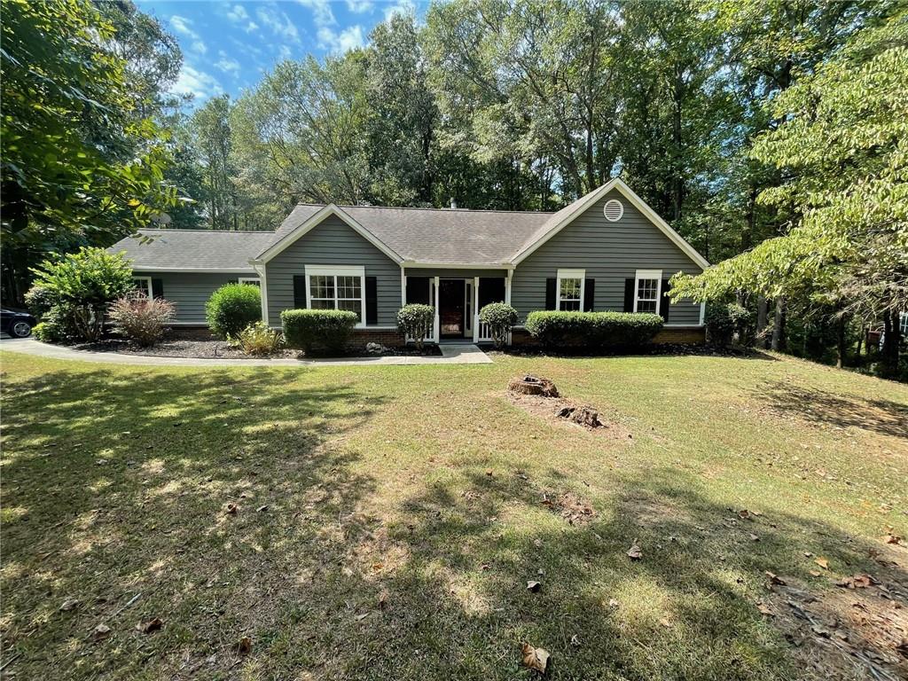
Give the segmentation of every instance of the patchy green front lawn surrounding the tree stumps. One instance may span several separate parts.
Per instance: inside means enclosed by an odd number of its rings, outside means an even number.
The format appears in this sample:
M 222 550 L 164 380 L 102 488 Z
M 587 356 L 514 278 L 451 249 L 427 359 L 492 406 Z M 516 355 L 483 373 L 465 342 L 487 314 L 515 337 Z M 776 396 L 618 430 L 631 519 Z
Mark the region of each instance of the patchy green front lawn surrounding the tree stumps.
M 16 678 L 529 678 L 522 641 L 558 679 L 862 678 L 786 617 L 791 595 L 765 570 L 841 627 L 855 597 L 903 601 L 908 551 L 882 537 L 908 535 L 905 386 L 768 356 L 2 360 L 0 627 Z M 513 406 L 503 389 L 525 371 L 632 437 Z M 541 503 L 566 492 L 591 522 Z M 858 571 L 893 598 L 839 597 Z M 135 630 L 153 617 L 160 631 Z M 111 636 L 94 642 L 99 623 Z M 874 631 L 850 641 L 904 674 Z

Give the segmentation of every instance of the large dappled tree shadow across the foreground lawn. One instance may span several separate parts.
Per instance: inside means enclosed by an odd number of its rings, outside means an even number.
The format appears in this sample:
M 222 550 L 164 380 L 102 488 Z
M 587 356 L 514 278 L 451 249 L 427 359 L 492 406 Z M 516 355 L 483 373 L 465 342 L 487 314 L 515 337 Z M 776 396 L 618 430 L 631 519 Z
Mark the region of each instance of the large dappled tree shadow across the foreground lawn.
M 795 647 L 804 626 L 786 600 L 824 626 L 849 617 L 804 552 L 903 598 L 903 569 L 868 558 L 880 546 L 795 514 L 743 520 L 676 469 L 616 475 L 623 491 L 575 526 L 540 503 L 593 493 L 571 479 L 469 466 L 372 517 L 380 471 L 358 472 L 349 436 L 384 400 L 323 383 L 257 390 L 298 376 L 96 371 L 15 387 L 4 502 L 23 512 L 4 528 L 4 636 L 20 677 L 530 678 L 528 641 L 552 653 L 553 679 L 862 678 L 812 634 Z M 765 570 L 820 600 L 770 590 Z M 67 597 L 79 605 L 58 612 Z M 133 629 L 152 617 L 161 631 Z M 111 636 L 92 643 L 101 622 Z M 848 631 L 893 656 L 889 639 Z

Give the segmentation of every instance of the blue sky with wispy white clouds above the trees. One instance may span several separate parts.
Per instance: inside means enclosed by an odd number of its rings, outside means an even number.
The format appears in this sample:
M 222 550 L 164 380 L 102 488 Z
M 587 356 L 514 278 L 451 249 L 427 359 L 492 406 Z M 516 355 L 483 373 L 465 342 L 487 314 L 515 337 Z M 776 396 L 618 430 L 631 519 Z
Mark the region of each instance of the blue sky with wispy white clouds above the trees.
M 195 104 L 252 88 L 282 59 L 340 54 L 366 44 L 397 12 L 425 14 L 424 0 L 137 0 L 177 37 L 183 72 L 173 86 Z

